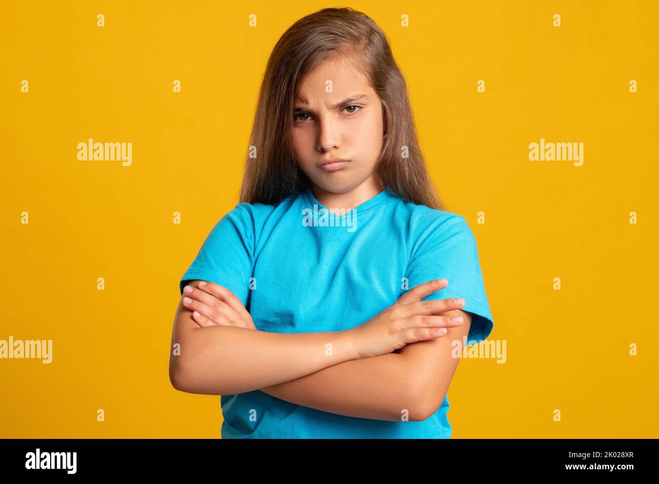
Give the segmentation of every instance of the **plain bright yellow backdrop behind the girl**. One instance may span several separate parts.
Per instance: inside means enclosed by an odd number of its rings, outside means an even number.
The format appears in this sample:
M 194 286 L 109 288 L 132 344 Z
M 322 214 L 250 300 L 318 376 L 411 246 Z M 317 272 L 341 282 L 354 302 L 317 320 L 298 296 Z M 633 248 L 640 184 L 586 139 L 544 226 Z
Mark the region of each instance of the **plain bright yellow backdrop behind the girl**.
M 460 363 L 453 438 L 657 437 L 658 4 L 346 5 L 391 40 L 507 342 Z M 3 2 L 0 339 L 52 339 L 53 362 L 0 360 L 0 437 L 219 438 L 219 396 L 169 383 L 179 279 L 237 203 L 273 45 L 329 6 Z M 132 166 L 78 161 L 88 138 L 132 142 Z M 583 166 L 529 161 L 540 138 L 583 142 Z

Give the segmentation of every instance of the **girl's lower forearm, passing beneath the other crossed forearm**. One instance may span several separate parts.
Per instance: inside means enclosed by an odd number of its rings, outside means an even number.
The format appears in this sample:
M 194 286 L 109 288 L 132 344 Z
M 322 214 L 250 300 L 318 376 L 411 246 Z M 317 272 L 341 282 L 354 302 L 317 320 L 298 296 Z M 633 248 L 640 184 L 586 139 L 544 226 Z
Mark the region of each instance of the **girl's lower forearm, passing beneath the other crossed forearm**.
M 349 417 L 401 421 L 422 414 L 407 359 L 389 353 L 339 363 L 260 389 L 294 404 Z M 407 412 L 406 412 L 407 411 Z

